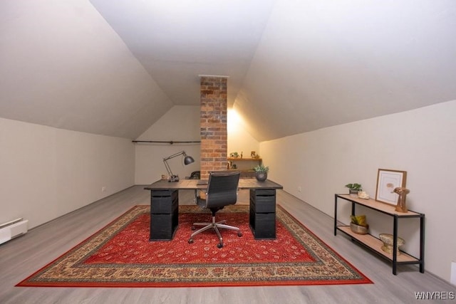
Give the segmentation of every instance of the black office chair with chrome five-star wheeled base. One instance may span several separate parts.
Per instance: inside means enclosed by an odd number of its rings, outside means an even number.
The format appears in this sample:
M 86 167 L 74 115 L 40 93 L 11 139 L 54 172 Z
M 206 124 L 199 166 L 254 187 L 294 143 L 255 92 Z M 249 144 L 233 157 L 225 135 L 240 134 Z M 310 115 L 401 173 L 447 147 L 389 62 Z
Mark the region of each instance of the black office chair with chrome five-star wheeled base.
M 207 191 L 204 192 L 204 195 L 197 196 L 197 205 L 203 209 L 210 209 L 212 212 L 212 223 L 194 223 L 192 225 L 192 230 L 195 230 L 195 226 L 204 226 L 202 229 L 199 229 L 192 233 L 189 243 L 193 243 L 193 237 L 197 234 L 206 231 L 207 229 L 214 229 L 219 236 L 220 243 L 217 244 L 218 248 L 223 247 L 222 234 L 220 234 L 219 228 L 231 229 L 237 231 L 237 236 L 241 237 L 241 229 L 228 226 L 224 223 L 226 221 L 215 221 L 215 214 L 220 209 L 223 209 L 224 206 L 236 204 L 237 201 L 237 192 L 239 184 L 240 172 L 210 172 L 209 180 L 207 182 Z

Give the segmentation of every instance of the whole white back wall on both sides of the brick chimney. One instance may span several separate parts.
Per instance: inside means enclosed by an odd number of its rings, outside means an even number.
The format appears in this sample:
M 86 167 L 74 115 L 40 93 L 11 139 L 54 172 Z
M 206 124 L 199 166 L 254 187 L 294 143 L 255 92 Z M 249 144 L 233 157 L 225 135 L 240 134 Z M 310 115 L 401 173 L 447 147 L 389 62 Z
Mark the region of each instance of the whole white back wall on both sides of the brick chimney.
M 199 105 L 175 105 L 137 140 L 199 141 L 199 113 Z M 228 154 L 235 151 L 244 152 L 244 157 L 249 157 L 251 151 L 259 152 L 259 142 L 249 135 L 244 123 L 243 117 L 237 115 L 234 110 L 228 110 Z M 172 173 L 178 174 L 181 179 L 190 176 L 191 172 L 199 170 L 200 148 L 199 143 L 136 144 L 135 184 L 151 184 L 160 179 L 162 174 L 167 175 L 163 158 L 182 150 L 195 159 L 193 164 L 182 165 L 182 157 L 175 157 L 168 162 Z

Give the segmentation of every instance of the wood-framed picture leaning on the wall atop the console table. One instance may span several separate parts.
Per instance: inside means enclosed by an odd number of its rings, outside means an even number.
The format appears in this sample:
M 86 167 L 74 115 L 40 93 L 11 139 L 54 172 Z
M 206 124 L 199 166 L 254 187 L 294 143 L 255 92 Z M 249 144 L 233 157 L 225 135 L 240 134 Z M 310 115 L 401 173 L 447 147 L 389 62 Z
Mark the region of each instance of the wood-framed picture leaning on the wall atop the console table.
M 405 187 L 406 180 L 406 171 L 378 169 L 375 201 L 382 201 L 383 203 L 393 205 L 397 204 L 399 196 L 394 192 L 394 189 Z

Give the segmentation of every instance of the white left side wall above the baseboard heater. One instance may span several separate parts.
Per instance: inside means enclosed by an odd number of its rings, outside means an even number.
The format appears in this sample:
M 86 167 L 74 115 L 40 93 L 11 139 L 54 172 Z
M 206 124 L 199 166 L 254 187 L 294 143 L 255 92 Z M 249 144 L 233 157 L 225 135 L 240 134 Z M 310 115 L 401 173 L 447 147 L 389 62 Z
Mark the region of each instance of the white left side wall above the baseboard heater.
M 0 118 L 0 223 L 33 228 L 128 188 L 134 157 L 130 140 Z

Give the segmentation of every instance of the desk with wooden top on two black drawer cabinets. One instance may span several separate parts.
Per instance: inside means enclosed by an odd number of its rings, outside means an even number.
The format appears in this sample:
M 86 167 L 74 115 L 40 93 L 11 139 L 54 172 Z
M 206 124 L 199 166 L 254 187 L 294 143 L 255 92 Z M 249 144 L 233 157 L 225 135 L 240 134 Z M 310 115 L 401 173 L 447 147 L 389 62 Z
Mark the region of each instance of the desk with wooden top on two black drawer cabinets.
M 144 189 L 150 190 L 150 241 L 172 240 L 179 212 L 179 190 L 206 189 L 199 179 L 179 182 L 159 180 Z M 250 190 L 249 224 L 255 239 L 276 238 L 276 189 L 280 184 L 267 179 L 239 179 L 239 189 Z

